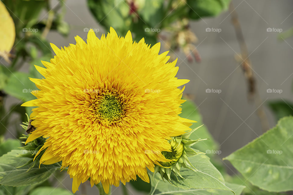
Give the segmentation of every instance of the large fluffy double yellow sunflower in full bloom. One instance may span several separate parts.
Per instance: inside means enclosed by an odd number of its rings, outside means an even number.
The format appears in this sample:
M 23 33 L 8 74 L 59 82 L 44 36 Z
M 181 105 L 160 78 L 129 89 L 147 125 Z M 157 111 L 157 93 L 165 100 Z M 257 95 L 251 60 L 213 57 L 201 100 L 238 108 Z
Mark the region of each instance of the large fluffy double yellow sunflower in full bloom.
M 179 117 L 184 85 L 175 77 L 176 60 L 158 54 L 160 43 L 150 47 L 131 32 L 118 37 L 110 28 L 99 39 L 93 30 L 86 42 L 58 48 L 46 68 L 35 66 L 44 78 L 30 78 L 39 90 L 30 116 L 36 130 L 26 143 L 46 139 L 40 164 L 62 161 L 73 178 L 72 191 L 90 183 L 125 185 L 139 176 L 149 182 L 147 168 L 169 161 L 161 151 L 171 151 L 168 140 L 189 131 L 191 121 Z

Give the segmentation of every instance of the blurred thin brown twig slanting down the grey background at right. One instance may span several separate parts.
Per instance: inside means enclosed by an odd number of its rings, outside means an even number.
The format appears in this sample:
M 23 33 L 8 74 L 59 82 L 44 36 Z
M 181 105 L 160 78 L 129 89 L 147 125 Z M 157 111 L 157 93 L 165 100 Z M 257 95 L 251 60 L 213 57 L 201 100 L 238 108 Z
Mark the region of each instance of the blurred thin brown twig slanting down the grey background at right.
M 266 132 L 269 129 L 269 122 L 262 106 L 263 102 L 259 96 L 259 91 L 256 88 L 256 81 L 255 81 L 254 74 L 252 72 L 251 62 L 249 60 L 248 48 L 244 40 L 244 36 L 241 30 L 241 25 L 238 19 L 237 12 L 235 11 L 235 8 L 232 2 L 230 3 L 229 11 L 231 14 L 232 24 L 235 28 L 236 37 L 237 37 L 240 50 L 241 50 L 241 56 L 240 56 L 241 66 L 244 72 L 244 76 L 247 79 L 248 98 L 250 100 L 254 100 L 257 107 L 257 115 L 262 125 L 262 131 Z

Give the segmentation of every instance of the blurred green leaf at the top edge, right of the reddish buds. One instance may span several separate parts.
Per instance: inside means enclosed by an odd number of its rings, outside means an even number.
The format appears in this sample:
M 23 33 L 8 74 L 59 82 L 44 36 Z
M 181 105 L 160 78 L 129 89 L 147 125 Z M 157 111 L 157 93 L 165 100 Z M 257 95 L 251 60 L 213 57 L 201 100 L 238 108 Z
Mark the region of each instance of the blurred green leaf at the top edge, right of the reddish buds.
M 201 19 L 206 16 L 216 16 L 228 9 L 231 0 L 187 0 L 191 7 L 189 17 L 191 19 Z

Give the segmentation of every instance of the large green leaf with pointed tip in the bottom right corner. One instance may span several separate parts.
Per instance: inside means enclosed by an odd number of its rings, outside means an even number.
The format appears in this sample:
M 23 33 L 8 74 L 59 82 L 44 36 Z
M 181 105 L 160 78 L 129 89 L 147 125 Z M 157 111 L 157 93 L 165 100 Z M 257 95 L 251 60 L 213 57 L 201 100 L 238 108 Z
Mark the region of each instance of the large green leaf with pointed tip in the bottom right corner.
M 271 192 L 293 190 L 293 117 L 225 158 L 259 188 Z

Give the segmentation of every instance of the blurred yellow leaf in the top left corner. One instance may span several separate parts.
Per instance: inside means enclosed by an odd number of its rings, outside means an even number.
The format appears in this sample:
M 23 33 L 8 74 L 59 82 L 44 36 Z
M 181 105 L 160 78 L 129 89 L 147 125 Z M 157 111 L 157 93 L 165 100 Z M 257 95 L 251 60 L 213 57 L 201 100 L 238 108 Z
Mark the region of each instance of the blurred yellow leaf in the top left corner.
M 5 5 L 0 1 L 0 54 L 9 53 L 15 40 L 15 27 Z M 5 55 L 5 54 L 4 54 Z

